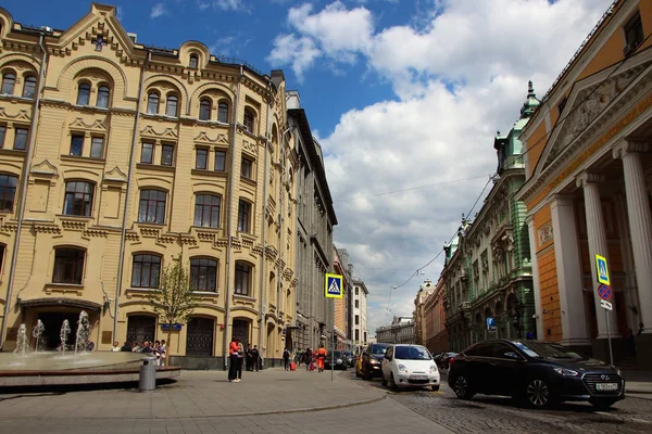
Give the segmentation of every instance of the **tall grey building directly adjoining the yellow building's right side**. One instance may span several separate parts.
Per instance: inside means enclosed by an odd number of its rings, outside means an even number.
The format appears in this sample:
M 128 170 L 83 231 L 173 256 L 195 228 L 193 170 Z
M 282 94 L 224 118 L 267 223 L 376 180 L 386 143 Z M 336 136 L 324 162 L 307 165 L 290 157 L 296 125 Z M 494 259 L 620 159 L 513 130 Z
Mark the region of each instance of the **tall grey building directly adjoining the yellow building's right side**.
M 333 272 L 333 227 L 337 217 L 326 181 L 322 146 L 312 137 L 299 93 L 287 91 L 289 128 L 296 137 L 297 322 L 293 348 L 316 348 L 331 340 L 333 302 L 324 296 L 325 273 Z

